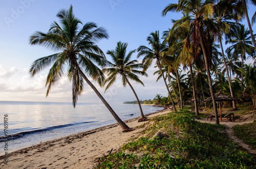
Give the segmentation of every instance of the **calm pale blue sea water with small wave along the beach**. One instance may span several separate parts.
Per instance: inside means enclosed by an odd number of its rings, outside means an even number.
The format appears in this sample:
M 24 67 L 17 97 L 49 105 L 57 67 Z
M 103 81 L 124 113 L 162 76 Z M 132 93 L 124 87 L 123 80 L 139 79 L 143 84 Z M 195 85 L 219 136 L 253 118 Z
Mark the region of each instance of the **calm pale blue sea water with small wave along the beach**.
M 122 120 L 140 116 L 137 104 L 111 104 Z M 142 105 L 150 114 L 161 107 Z M 4 115 L 8 115 L 8 148 L 20 149 L 47 140 L 116 123 L 103 104 L 0 101 L 0 154 L 4 153 Z

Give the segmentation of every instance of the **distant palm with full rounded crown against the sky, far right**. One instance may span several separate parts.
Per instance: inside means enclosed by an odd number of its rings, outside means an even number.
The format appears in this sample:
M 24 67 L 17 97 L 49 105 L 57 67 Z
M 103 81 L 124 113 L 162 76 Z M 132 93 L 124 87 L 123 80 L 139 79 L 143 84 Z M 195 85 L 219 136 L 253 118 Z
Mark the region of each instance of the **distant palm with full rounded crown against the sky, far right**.
M 244 60 L 246 59 L 246 53 L 251 55 L 254 53 L 254 48 L 252 45 L 251 38 L 249 37 L 250 32 L 245 29 L 244 24 L 234 27 L 235 29 L 228 35 L 229 40 L 226 44 L 231 43 L 232 45 L 226 49 L 226 52 L 232 52 L 233 58 L 238 58 L 241 55 L 242 66 L 244 67 Z M 255 35 L 254 35 L 255 36 Z M 243 73 L 241 73 L 241 82 L 243 83 Z

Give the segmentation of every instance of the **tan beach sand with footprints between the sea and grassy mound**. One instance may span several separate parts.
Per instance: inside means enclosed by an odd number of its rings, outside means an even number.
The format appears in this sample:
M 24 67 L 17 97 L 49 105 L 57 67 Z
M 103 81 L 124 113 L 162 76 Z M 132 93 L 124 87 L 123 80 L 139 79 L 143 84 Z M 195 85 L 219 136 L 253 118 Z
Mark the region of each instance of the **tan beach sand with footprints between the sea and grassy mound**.
M 167 114 L 170 109 L 149 114 L 147 117 Z M 125 121 L 130 128 L 146 122 L 138 118 Z M 93 168 L 96 158 L 118 150 L 129 138 L 139 135 L 143 128 L 122 132 L 118 124 L 41 143 L 9 154 L 8 165 L 0 157 L 0 168 Z M 11 145 L 10 145 L 11 146 Z

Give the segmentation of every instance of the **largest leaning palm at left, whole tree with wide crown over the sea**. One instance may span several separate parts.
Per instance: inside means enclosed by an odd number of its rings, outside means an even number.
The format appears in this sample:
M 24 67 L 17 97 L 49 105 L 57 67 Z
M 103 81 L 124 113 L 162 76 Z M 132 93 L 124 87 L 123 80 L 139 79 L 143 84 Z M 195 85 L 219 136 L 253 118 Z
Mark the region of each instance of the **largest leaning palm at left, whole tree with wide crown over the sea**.
M 57 13 L 57 17 L 60 20 L 60 24 L 54 21 L 50 26 L 49 32 L 35 32 L 30 37 L 30 44 L 41 45 L 59 52 L 35 60 L 29 73 L 34 76 L 52 65 L 46 80 L 46 86 L 48 86 L 46 96 L 48 96 L 51 87 L 61 79 L 67 66 L 67 76 L 72 82 L 74 108 L 78 96 L 81 95 L 84 89 L 85 80 L 109 109 L 123 131 L 129 130 L 130 128 L 117 116 L 112 107 L 88 79 L 90 77 L 96 80 L 100 86 L 103 85 L 104 75 L 94 63 L 104 65 L 105 57 L 95 42 L 108 38 L 106 30 L 103 27 L 97 27 L 93 22 L 88 22 L 79 29 L 79 25 L 82 25 L 82 22 L 74 16 L 72 6 L 70 6 L 69 10 L 60 10 Z

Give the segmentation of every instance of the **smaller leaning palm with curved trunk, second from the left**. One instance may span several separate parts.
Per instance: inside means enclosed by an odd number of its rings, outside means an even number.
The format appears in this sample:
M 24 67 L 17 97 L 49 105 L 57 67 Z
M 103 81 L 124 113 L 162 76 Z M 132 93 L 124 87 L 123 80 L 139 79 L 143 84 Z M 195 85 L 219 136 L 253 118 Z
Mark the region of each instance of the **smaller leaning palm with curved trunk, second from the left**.
M 108 50 L 107 52 L 107 54 L 111 56 L 113 63 L 108 61 L 109 68 L 104 68 L 102 70 L 102 72 L 108 73 L 108 76 L 109 76 L 108 78 L 105 79 L 105 82 L 104 82 L 104 83 L 108 83 L 105 91 L 108 90 L 113 85 L 113 83 L 116 81 L 116 76 L 120 74 L 122 76 L 123 86 L 125 87 L 126 84 L 128 83 L 128 85 L 131 87 L 138 101 L 139 108 L 140 108 L 140 119 L 138 120 L 138 122 L 143 122 L 143 121 L 146 121 L 147 119 L 143 115 L 143 111 L 140 105 L 140 100 L 128 79 L 135 80 L 136 82 L 139 82 L 144 86 L 143 82 L 139 79 L 139 77 L 136 74 L 145 75 L 145 76 L 147 76 L 147 74 L 144 71 L 136 70 L 137 68 L 144 68 L 144 65 L 138 64 L 137 60 L 131 61 L 132 54 L 135 52 L 135 50 L 130 51 L 126 55 L 127 45 L 128 45 L 127 43 L 117 42 L 116 49 Z

